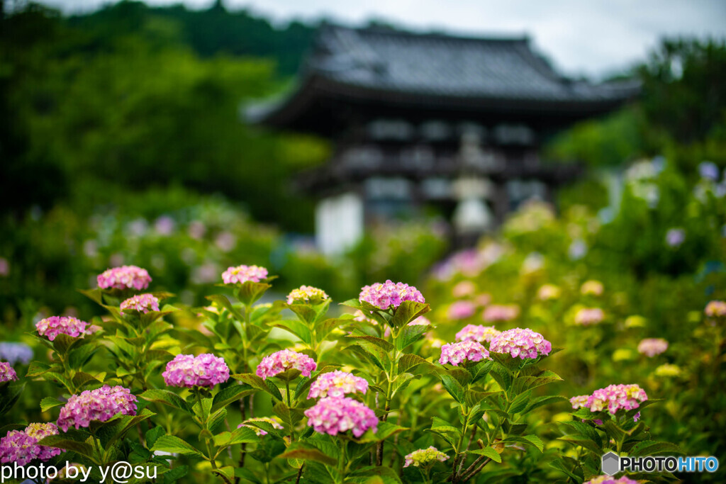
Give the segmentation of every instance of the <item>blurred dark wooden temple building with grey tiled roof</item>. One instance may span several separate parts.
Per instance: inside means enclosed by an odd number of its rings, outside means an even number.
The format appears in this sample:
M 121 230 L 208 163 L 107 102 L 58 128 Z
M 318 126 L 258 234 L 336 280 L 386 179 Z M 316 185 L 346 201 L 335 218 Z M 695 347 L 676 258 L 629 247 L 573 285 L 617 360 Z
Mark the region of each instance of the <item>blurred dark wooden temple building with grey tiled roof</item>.
M 319 200 L 319 248 L 335 254 L 376 221 L 433 211 L 472 240 L 523 201 L 552 200 L 579 168 L 542 163 L 542 141 L 637 91 L 565 78 L 526 37 L 323 25 L 295 88 L 246 115 L 332 141 L 298 184 Z

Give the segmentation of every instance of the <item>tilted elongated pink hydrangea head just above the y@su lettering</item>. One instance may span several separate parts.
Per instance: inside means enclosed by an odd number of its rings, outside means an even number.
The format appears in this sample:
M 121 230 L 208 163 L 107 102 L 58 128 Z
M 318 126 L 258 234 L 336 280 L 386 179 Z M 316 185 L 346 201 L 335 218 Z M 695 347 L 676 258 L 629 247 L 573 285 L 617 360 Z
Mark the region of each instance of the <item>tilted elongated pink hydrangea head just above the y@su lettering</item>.
M 57 424 L 68 432 L 70 427 L 88 427 L 91 421 L 105 422 L 115 414 L 136 415 L 136 395 L 131 395 L 128 388 L 104 385 L 71 395 L 60 409 Z

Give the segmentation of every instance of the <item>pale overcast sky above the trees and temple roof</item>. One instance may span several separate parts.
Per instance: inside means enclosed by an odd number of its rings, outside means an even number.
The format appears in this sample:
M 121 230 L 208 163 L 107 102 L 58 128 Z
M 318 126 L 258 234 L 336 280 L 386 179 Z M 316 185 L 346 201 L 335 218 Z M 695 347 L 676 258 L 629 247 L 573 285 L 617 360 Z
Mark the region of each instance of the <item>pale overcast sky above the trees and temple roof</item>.
M 105 0 L 43 0 L 65 12 Z M 147 0 L 176 4 L 179 0 Z M 206 8 L 211 0 L 184 0 Z M 225 0 L 275 22 L 327 17 L 350 25 L 375 18 L 412 30 L 466 35 L 529 34 L 563 73 L 600 77 L 644 60 L 663 36 L 726 38 L 725 0 Z

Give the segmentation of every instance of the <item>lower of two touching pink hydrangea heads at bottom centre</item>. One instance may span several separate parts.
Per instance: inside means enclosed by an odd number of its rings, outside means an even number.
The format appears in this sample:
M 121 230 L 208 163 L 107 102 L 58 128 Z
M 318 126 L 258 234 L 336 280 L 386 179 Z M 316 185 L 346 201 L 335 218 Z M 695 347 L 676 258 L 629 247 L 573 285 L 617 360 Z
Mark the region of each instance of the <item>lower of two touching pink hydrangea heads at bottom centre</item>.
M 378 432 L 378 417 L 364 403 L 353 398 L 321 398 L 315 406 L 305 411 L 308 425 L 315 432 L 328 435 L 351 430 L 353 435 L 360 437 L 366 430 Z

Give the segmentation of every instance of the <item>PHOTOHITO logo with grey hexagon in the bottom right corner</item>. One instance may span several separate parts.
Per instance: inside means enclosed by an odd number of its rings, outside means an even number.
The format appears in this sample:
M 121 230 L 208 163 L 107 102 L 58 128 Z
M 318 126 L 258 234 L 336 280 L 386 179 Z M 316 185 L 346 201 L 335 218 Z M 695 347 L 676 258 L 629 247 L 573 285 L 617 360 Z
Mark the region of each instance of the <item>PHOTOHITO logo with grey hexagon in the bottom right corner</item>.
M 622 471 L 634 472 L 716 472 L 719 459 L 709 457 L 646 456 L 620 457 L 614 452 L 603 456 L 603 474 L 615 475 Z

